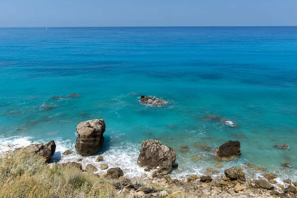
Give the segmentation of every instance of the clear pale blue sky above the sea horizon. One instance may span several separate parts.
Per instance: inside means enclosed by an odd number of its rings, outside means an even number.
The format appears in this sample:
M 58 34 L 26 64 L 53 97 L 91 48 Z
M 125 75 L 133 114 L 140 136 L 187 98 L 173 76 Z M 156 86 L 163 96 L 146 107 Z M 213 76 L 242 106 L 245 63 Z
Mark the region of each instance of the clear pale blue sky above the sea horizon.
M 0 0 L 0 27 L 297 26 L 297 0 Z

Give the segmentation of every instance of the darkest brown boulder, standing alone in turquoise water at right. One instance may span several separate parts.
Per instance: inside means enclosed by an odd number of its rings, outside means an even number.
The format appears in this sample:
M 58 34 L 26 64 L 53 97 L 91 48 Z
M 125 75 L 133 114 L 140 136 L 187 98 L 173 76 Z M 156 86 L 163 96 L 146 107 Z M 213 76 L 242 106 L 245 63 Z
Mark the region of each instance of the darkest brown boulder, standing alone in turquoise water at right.
M 215 157 L 220 160 L 233 160 L 241 155 L 240 142 L 229 141 L 218 148 Z

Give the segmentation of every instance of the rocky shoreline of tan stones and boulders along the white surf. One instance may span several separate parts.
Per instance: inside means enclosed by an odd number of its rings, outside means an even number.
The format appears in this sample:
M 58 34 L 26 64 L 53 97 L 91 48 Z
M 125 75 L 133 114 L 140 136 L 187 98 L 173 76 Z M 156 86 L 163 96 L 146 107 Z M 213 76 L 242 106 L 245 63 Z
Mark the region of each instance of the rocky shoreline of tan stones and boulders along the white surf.
M 76 128 L 78 137 L 75 149 L 82 156 L 96 154 L 103 146 L 105 123 L 103 119 L 89 120 L 81 122 Z M 278 146 L 284 148 L 285 146 Z M 15 153 L 30 153 L 42 156 L 49 162 L 55 152 L 54 141 L 49 143 L 29 145 L 25 148 L 15 149 Z M 187 148 L 184 148 L 187 149 Z M 67 150 L 63 155 L 70 154 Z M 229 141 L 215 150 L 214 157 L 218 160 L 236 160 L 241 155 L 240 142 Z M 104 161 L 99 156 L 96 161 Z M 101 164 L 101 170 L 107 170 L 106 174 L 98 177 L 106 178 L 118 191 L 120 197 L 127 198 L 164 198 L 178 197 L 204 197 L 204 198 L 297 198 L 297 182 L 290 179 L 284 180 L 284 184 L 278 184 L 275 180 L 277 175 L 266 173 L 263 178 L 246 178 L 243 167 L 230 167 L 224 171 L 220 178 L 212 178 L 216 173 L 212 169 L 206 169 L 207 174 L 202 176 L 189 175 L 183 180 L 171 179 L 168 173 L 178 167 L 175 163 L 176 153 L 172 148 L 162 145 L 160 141 L 146 140 L 142 143 L 142 148 L 138 159 L 135 159 L 140 167 L 146 171 L 141 177 L 129 178 L 125 176 L 120 167 L 108 167 L 108 164 Z M 250 164 L 246 164 L 251 167 Z M 98 172 L 98 167 L 88 164 L 85 169 L 79 161 L 67 163 L 48 163 L 49 169 L 67 167 L 69 169 L 79 169 L 86 174 Z M 136 183 L 135 183 L 136 181 Z M 145 183 L 146 185 L 143 185 Z M 155 188 L 157 186 L 158 188 Z M 165 190 L 164 190 L 165 189 Z M 168 193 L 171 192 L 171 195 Z M 175 193 L 175 194 L 174 194 Z

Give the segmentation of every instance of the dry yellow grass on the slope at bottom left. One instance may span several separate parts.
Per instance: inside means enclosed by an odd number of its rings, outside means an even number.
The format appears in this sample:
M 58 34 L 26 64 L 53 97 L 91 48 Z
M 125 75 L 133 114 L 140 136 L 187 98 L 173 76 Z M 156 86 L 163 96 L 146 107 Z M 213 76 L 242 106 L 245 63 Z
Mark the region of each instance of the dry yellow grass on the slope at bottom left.
M 115 198 L 102 178 L 79 169 L 49 169 L 35 155 L 7 152 L 0 158 L 0 198 Z

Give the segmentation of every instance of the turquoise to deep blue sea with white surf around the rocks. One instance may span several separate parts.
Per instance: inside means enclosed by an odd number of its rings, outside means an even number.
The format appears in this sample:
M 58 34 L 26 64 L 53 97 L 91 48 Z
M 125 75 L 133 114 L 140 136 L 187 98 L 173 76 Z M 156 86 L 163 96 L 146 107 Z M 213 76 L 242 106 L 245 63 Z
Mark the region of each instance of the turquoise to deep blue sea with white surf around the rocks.
M 168 103 L 145 105 L 141 95 Z M 104 147 L 81 157 L 76 126 L 99 118 Z M 54 140 L 56 162 L 83 158 L 139 176 L 147 139 L 177 152 L 172 178 L 250 163 L 297 180 L 297 27 L 0 28 L 0 144 Z M 241 142 L 234 161 L 201 147 L 229 140 Z M 254 169 L 245 171 L 263 174 Z

